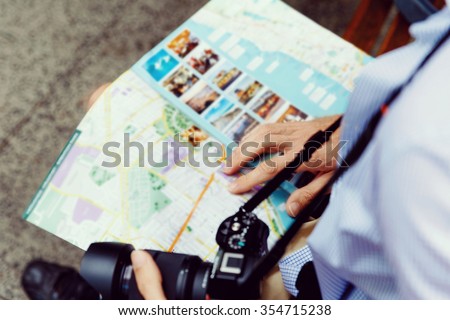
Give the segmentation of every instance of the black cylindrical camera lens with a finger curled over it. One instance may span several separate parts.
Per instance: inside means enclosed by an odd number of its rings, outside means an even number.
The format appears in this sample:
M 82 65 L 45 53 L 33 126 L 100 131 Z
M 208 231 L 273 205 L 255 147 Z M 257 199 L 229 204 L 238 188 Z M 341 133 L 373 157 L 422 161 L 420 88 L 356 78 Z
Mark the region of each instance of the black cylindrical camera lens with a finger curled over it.
M 81 275 L 103 299 L 142 299 L 131 267 L 132 245 L 93 243 L 81 262 Z M 158 265 L 169 299 L 205 299 L 211 263 L 197 256 L 147 250 Z

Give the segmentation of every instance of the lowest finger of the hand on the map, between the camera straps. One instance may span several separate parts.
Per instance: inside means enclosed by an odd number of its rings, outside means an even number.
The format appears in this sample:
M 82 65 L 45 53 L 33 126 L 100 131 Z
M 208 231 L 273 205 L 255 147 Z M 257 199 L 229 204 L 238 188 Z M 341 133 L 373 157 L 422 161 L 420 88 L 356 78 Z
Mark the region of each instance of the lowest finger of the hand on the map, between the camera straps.
M 293 192 L 286 203 L 286 211 L 291 217 L 305 208 L 317 193 L 325 186 L 325 184 L 333 176 L 333 171 L 317 176 L 309 184 Z

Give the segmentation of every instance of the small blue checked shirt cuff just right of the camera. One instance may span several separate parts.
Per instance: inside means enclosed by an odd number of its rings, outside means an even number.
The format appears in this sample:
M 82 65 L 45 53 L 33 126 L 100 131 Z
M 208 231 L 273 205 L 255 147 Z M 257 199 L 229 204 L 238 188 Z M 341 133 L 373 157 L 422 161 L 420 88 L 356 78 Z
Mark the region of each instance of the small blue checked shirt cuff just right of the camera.
M 298 295 L 298 290 L 295 286 L 298 274 L 303 265 L 312 260 L 311 249 L 307 245 L 278 261 L 284 287 L 295 297 Z

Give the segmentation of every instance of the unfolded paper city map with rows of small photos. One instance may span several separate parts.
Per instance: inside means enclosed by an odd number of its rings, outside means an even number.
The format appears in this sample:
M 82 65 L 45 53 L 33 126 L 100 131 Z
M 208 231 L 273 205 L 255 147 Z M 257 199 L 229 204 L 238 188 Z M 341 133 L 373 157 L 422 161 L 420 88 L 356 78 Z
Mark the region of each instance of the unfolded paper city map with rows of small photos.
M 24 218 L 82 249 L 119 241 L 211 260 L 220 222 L 252 194 L 227 191 L 232 147 L 261 123 L 343 113 L 370 60 L 281 1 L 210 1 L 108 87 Z M 292 223 L 292 188 L 255 211 L 269 246 Z

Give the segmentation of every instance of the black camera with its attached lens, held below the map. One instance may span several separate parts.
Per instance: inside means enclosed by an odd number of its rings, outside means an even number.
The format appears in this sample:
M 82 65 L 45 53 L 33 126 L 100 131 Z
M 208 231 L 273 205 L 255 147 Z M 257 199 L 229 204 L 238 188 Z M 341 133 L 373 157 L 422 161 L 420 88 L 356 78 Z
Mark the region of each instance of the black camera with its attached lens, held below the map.
M 259 282 L 247 281 L 267 254 L 269 228 L 242 207 L 219 226 L 213 263 L 197 256 L 146 250 L 158 265 L 169 299 L 257 299 Z M 130 244 L 98 242 L 81 262 L 81 275 L 103 299 L 142 299 L 131 266 Z

